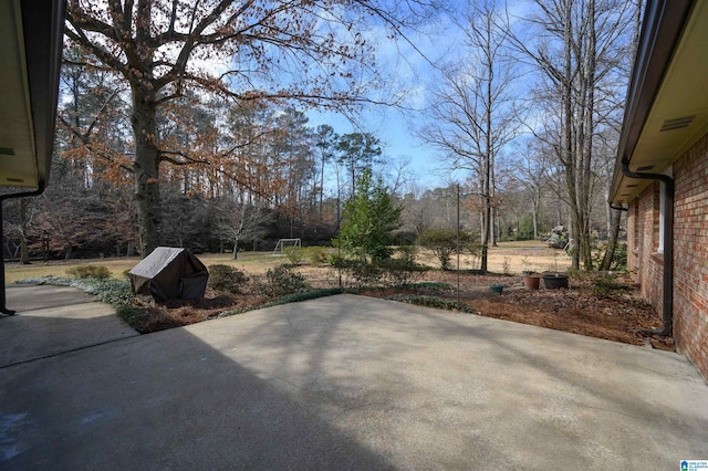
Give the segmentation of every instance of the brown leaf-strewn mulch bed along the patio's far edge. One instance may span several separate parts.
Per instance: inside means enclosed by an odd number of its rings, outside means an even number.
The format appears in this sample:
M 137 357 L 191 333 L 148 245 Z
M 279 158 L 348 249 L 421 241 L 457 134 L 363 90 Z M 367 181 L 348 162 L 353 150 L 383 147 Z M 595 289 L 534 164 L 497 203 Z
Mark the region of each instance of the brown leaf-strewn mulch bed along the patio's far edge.
M 331 268 L 306 266 L 301 272 L 314 287 L 339 284 L 339 274 Z M 382 299 L 425 295 L 457 302 L 458 283 L 459 302 L 478 315 L 632 345 L 674 349 L 673 338 L 645 332 L 659 328 L 662 322 L 638 292 L 617 290 L 608 296 L 598 296 L 593 292 L 590 279 L 572 280 L 571 289 L 549 290 L 541 284 L 540 290 L 530 291 L 523 287 L 521 276 L 429 271 L 409 286 L 358 289 L 355 292 Z M 491 292 L 489 286 L 492 284 L 504 286 L 501 295 Z M 251 293 L 248 290 L 246 294 L 208 291 L 206 297 L 198 302 L 149 305 L 136 328 L 140 333 L 148 333 L 179 327 L 216 317 L 223 312 L 254 308 L 273 301 Z

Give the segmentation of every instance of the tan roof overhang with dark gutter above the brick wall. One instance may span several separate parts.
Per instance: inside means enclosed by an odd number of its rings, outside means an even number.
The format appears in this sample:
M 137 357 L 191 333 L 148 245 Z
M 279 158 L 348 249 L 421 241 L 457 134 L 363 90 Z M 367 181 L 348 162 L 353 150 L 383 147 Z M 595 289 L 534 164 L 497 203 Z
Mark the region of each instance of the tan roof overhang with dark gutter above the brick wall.
M 708 0 L 648 0 L 627 92 L 611 202 L 652 182 L 622 174 L 663 174 L 708 133 Z

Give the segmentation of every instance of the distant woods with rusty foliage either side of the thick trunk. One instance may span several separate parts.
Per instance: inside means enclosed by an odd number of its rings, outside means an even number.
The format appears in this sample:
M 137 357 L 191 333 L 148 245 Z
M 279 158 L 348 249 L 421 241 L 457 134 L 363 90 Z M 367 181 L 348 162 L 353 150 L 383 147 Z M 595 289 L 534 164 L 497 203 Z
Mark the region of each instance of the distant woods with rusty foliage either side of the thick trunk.
M 117 90 L 101 72 L 64 67 L 51 185 L 6 209 L 7 258 L 140 255 L 137 196 L 126 168 L 131 138 L 121 132 L 127 105 Z M 329 244 L 353 195 L 351 178 L 384 161 L 372 134 L 313 128 L 292 107 L 195 97 L 173 105 L 157 127 L 180 149 L 169 158 L 198 157 L 160 175 L 160 244 L 197 253 L 272 250 L 292 237 Z M 215 156 L 216 143 L 230 154 Z

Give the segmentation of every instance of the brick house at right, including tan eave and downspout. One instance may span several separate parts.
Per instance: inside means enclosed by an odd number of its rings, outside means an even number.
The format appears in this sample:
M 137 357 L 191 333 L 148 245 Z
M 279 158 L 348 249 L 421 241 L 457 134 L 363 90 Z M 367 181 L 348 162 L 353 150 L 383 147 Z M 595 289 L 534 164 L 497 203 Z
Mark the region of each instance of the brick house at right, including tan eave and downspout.
M 648 0 L 611 202 L 662 334 L 708 379 L 708 0 Z

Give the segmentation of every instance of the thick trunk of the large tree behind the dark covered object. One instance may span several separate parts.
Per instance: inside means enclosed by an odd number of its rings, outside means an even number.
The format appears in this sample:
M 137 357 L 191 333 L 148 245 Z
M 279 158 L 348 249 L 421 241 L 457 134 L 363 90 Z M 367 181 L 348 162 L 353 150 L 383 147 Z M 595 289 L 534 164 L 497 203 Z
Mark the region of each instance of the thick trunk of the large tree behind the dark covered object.
M 135 200 L 140 236 L 140 255 L 147 257 L 159 241 L 159 151 L 156 146 L 157 126 L 153 100 L 133 91 L 132 125 L 135 134 Z

